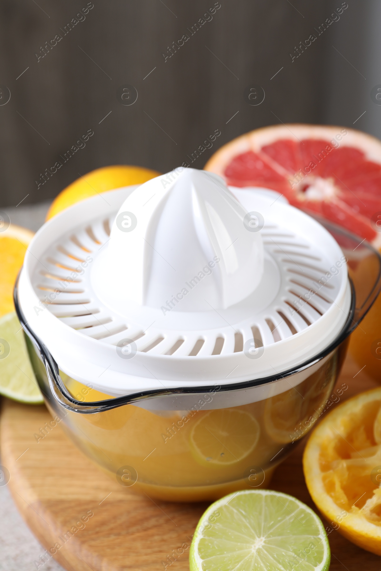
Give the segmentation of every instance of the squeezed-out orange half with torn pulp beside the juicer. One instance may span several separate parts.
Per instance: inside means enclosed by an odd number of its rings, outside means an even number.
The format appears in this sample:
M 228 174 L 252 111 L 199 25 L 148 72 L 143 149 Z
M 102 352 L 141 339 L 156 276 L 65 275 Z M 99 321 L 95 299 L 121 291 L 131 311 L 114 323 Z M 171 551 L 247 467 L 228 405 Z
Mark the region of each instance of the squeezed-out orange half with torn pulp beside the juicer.
M 330 412 L 308 440 L 303 470 L 330 530 L 381 555 L 381 388 Z

